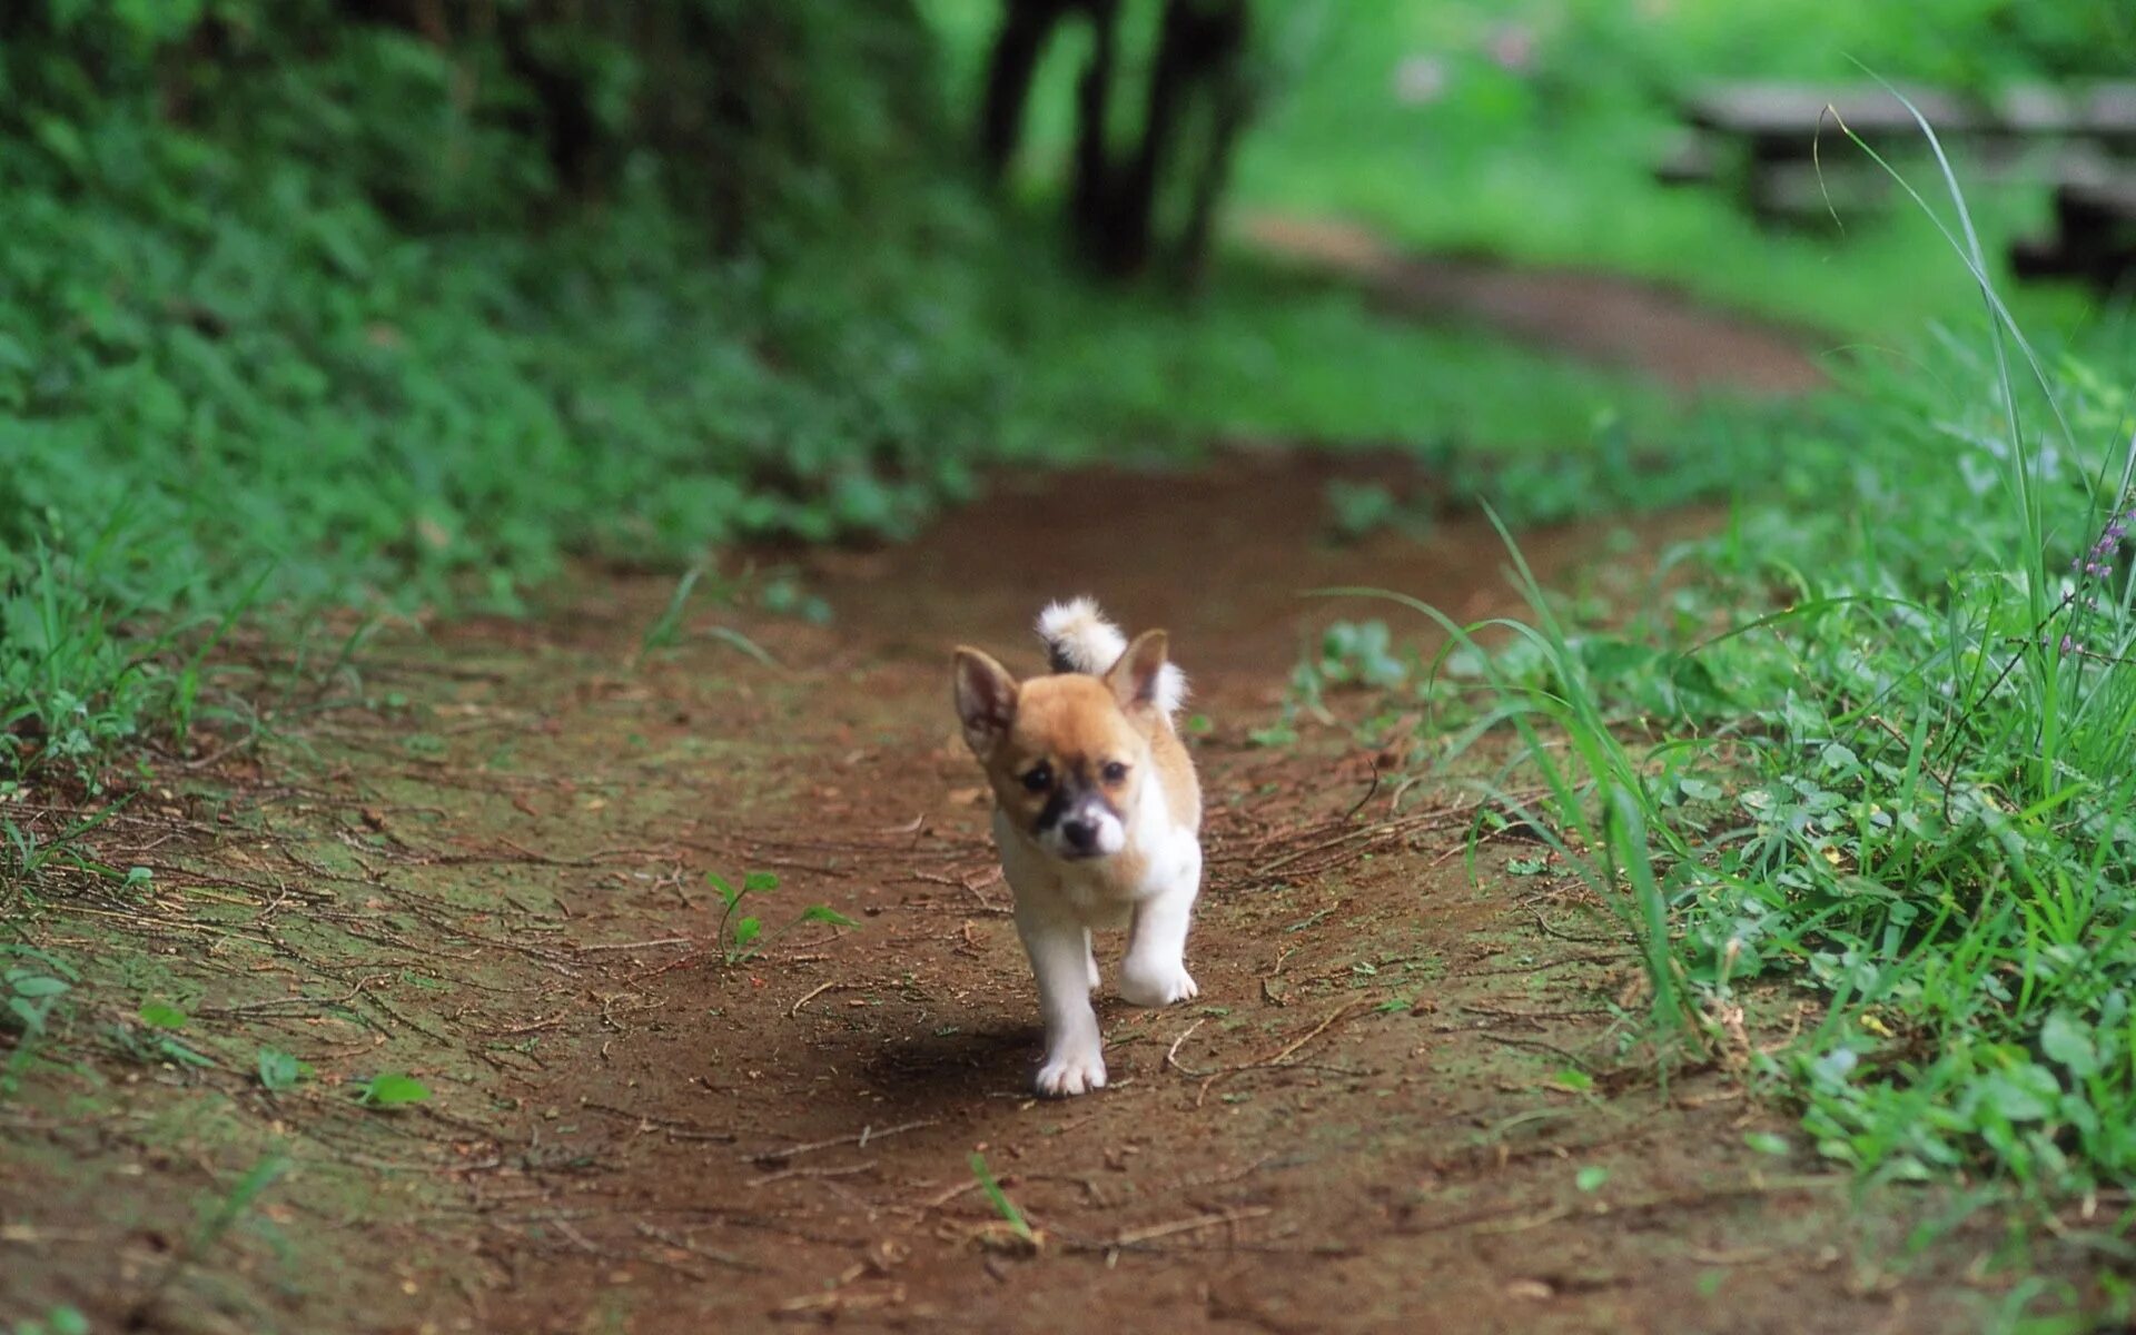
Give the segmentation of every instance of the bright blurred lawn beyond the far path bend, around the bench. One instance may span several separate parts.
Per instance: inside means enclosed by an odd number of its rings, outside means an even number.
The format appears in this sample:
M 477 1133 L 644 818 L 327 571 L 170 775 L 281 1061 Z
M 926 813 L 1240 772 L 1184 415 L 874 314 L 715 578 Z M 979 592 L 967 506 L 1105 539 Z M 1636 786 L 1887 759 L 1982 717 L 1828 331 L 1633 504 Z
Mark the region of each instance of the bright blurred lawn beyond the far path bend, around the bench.
M 991 0 L 925 9 L 953 77 L 972 90 Z M 1269 4 L 1260 21 L 1273 92 L 1243 139 L 1235 207 L 1339 216 L 1427 252 L 1636 273 L 1850 342 L 1905 342 L 1925 320 L 1967 312 L 1933 229 L 1903 207 L 1843 207 L 1837 220 L 1773 231 L 1719 190 L 1655 184 L 1677 128 L 1670 96 L 1724 77 L 1858 85 L 1863 68 L 1993 88 L 2042 68 L 2119 73 L 2136 53 L 2136 32 L 2106 0 L 1959 0 L 1933 26 L 1899 9 L 1839 13 L 1816 0 L 1756 11 L 1722 0 L 1363 0 Z M 1132 60 L 1138 45 L 1128 49 Z M 1047 190 L 1066 160 L 1079 62 L 1070 38 L 1042 66 L 1023 162 L 1030 192 Z M 1429 94 L 1403 94 L 1405 81 Z M 1822 152 L 1841 173 L 1873 173 L 1837 128 Z M 2001 194 L 1982 209 L 1997 273 L 2004 244 L 2046 216 L 2044 190 Z M 2014 299 L 2042 331 L 2087 310 L 2068 290 Z

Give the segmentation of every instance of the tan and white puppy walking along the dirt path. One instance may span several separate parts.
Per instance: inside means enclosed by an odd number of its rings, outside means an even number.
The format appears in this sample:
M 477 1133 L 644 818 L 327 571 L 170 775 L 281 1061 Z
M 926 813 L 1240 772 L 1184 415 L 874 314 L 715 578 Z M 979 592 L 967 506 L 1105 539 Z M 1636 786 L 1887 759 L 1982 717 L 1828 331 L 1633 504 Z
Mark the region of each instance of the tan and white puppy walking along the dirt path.
M 1166 662 L 1162 630 L 1130 645 L 1077 598 L 1047 607 L 1038 634 L 1053 675 L 1019 684 L 978 649 L 957 649 L 955 701 L 993 786 L 993 846 L 1038 976 L 1038 1091 L 1066 1096 L 1104 1085 L 1091 927 L 1128 925 L 1128 1002 L 1168 1006 L 1198 991 L 1185 944 L 1200 891 L 1200 784 L 1173 726 L 1185 677 Z

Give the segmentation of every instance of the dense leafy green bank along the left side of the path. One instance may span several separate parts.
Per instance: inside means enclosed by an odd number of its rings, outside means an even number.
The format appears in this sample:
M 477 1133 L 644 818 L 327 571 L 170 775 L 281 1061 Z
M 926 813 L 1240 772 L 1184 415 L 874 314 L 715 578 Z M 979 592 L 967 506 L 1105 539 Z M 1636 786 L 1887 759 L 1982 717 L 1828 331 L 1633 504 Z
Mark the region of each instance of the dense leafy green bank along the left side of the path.
M 842 9 L 11 11 L 0 780 L 182 735 L 252 598 L 508 609 L 965 493 L 983 229 L 921 32 Z

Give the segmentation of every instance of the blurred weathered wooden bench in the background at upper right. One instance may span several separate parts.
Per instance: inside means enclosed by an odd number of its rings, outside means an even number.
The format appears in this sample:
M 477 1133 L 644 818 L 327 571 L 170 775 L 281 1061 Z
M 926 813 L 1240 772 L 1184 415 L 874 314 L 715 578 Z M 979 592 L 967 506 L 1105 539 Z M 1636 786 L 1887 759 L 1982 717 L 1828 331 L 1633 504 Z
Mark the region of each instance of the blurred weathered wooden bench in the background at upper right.
M 2053 190 L 2055 231 L 2012 250 L 2021 276 L 2110 286 L 2136 269 L 2136 83 L 2029 85 L 1993 98 L 1901 92 L 1952 152 L 1963 186 Z M 1927 156 L 1914 113 L 1878 85 L 1717 83 L 1694 90 L 1681 120 L 1658 179 L 1730 188 L 1769 222 L 1892 203 L 1895 182 L 1852 139 L 1910 169 Z M 1942 197 L 1933 167 L 1912 179 Z

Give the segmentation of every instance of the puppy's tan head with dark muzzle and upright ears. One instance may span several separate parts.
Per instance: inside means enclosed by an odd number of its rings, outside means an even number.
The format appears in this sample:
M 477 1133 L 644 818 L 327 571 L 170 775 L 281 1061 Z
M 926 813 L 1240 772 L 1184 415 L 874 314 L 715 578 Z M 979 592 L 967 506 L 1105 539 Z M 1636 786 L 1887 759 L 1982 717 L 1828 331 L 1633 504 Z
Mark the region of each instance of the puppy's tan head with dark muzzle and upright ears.
M 1158 782 L 1147 724 L 1164 632 L 1147 630 L 1102 677 L 1019 684 L 978 649 L 957 649 L 957 720 L 1008 820 L 1066 861 L 1128 846 L 1143 784 Z

